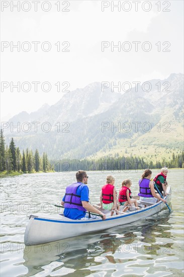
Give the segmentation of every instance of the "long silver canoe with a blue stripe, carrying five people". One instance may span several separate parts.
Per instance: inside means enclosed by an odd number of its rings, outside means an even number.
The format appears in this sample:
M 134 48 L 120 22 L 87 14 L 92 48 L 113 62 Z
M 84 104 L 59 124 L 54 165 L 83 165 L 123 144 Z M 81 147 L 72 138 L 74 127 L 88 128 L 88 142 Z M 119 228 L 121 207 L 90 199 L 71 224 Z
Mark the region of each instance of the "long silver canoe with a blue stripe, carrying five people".
M 167 187 L 167 193 L 169 194 L 164 198 L 167 200 L 167 203 L 169 203 L 171 199 L 170 186 Z M 137 202 L 140 206 L 138 210 L 130 207 L 127 212 L 123 213 L 120 211 L 118 215 L 114 213 L 114 216 L 112 217 L 110 216 L 110 211 L 106 211 L 106 220 L 102 220 L 100 217 L 99 219 L 84 221 L 72 220 L 65 218 L 63 214 L 48 216 L 45 214 L 30 215 L 24 236 L 25 245 L 48 243 L 82 234 L 106 230 L 115 226 L 129 224 L 150 217 L 159 213 L 163 208 L 167 209 L 165 203 L 162 201 L 148 203 L 137 200 Z M 98 205 L 95 205 L 95 207 L 98 207 Z

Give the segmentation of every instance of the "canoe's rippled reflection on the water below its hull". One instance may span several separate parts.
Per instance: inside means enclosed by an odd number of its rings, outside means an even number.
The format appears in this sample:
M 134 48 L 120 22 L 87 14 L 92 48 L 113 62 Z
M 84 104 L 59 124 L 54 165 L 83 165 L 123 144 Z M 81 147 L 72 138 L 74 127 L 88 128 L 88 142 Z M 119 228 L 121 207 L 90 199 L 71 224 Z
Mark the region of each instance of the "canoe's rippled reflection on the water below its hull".
M 25 276 L 31 276 L 38 272 L 53 270 L 57 274 L 70 273 L 82 268 L 85 275 L 101 264 L 101 259 L 105 263 L 121 263 L 127 260 L 138 258 L 140 255 L 159 253 L 159 245 L 156 244 L 155 232 L 159 232 L 160 225 L 164 222 L 168 226 L 168 217 L 161 212 L 159 217 L 152 216 L 142 219 L 139 224 L 111 228 L 105 232 L 93 233 L 63 239 L 40 245 L 26 246 L 24 249 L 24 265 L 28 268 Z M 162 231 L 163 231 L 163 227 Z M 168 228 L 168 227 L 167 227 Z M 158 235 L 157 235 L 158 236 Z M 170 237 L 169 232 L 165 236 Z M 100 260 L 99 260 L 100 258 Z M 104 263 L 103 262 L 103 263 Z M 49 267 L 49 269 L 48 269 Z M 94 268 L 95 269 L 95 268 Z M 72 271 L 68 271 L 72 270 Z M 81 271 L 78 271 L 81 275 Z

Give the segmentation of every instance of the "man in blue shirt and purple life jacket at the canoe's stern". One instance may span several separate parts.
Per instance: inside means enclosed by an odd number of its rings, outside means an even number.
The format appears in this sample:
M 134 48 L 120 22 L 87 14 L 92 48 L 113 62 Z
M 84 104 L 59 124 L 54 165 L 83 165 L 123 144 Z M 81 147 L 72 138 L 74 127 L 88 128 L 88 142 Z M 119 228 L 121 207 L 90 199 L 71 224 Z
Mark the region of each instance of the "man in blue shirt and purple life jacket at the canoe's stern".
M 103 220 L 106 219 L 101 211 L 97 210 L 94 206 L 89 204 L 89 189 L 87 186 L 88 176 L 85 171 L 78 170 L 76 172 L 77 182 L 72 183 L 66 187 L 65 195 L 61 201 L 61 205 L 64 206 L 64 216 L 70 219 L 88 220 L 99 218 L 91 213 L 96 213 L 103 216 Z

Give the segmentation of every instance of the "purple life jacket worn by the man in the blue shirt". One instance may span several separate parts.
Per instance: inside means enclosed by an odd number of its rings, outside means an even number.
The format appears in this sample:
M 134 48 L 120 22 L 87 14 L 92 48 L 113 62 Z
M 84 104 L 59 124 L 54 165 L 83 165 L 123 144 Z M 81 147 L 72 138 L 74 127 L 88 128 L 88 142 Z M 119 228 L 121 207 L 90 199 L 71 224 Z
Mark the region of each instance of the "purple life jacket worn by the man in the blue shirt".
M 66 187 L 64 207 L 70 209 L 78 209 L 79 211 L 86 212 L 80 201 L 80 195 L 76 194 L 77 188 L 83 183 L 73 183 Z

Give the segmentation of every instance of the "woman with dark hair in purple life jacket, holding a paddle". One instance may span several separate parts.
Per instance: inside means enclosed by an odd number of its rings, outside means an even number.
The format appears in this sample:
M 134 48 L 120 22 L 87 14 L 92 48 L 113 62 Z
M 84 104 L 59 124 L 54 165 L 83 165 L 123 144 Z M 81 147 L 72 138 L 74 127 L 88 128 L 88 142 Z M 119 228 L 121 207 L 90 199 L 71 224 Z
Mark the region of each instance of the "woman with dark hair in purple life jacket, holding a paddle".
M 166 200 L 161 198 L 158 193 L 155 193 L 154 183 L 151 181 L 152 171 L 150 169 L 144 170 L 141 179 L 139 180 L 139 193 L 141 201 L 149 203 L 156 203 L 157 200 L 161 200 L 166 203 Z

